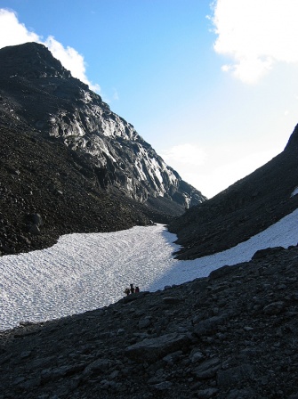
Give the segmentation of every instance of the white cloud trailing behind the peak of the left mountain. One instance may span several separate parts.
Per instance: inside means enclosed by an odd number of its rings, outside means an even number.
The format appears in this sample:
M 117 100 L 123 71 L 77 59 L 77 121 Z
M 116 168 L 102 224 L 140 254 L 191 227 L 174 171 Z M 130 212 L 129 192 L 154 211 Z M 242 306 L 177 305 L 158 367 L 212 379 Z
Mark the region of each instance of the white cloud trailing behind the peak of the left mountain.
M 17 18 L 13 11 L 0 9 L 0 48 L 7 45 L 21 45 L 28 42 L 37 42 L 45 45 L 57 58 L 64 68 L 70 70 L 73 77 L 77 77 L 90 88 L 99 93 L 101 87 L 93 84 L 86 76 L 86 65 L 83 55 L 77 53 L 72 47 L 66 48 L 60 44 L 54 37 L 47 37 L 45 41 L 35 32 L 28 30 Z

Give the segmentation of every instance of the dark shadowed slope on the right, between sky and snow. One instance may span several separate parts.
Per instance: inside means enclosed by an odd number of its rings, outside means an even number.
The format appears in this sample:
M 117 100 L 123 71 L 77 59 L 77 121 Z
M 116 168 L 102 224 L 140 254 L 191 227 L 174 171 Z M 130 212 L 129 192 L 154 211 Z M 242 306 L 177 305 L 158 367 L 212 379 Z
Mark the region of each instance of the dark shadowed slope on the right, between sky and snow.
M 182 246 L 178 257 L 213 254 L 262 232 L 298 208 L 297 186 L 298 125 L 277 157 L 169 225 Z

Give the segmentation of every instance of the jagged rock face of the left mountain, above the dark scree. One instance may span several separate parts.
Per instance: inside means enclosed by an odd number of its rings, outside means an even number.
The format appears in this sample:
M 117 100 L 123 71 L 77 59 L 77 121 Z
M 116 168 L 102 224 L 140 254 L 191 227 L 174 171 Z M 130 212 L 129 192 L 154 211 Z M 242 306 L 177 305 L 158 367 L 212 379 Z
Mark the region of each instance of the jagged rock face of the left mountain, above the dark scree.
M 205 200 L 44 45 L 0 50 L 0 76 L 3 117 L 22 120 L 77 151 L 102 188 L 117 187 L 141 202 L 165 197 L 185 208 Z

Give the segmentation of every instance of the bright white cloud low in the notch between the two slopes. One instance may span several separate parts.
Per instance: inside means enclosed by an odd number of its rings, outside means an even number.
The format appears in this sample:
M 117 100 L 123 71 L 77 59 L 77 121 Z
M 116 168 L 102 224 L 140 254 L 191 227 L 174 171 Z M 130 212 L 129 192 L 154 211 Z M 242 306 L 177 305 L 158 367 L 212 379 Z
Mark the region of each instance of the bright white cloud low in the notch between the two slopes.
M 249 144 L 243 146 L 241 142 L 234 142 L 205 148 L 185 143 L 159 153 L 183 180 L 212 198 L 262 167 L 278 152 L 276 149 L 254 149 L 254 145 L 252 150 Z

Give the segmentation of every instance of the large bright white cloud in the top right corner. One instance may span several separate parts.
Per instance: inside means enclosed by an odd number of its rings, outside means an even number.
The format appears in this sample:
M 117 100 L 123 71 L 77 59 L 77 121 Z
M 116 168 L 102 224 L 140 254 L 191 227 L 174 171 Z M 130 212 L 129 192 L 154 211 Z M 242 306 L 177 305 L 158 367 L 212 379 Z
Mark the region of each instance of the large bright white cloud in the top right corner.
M 214 50 L 233 60 L 222 69 L 253 84 L 277 62 L 298 66 L 297 13 L 297 0 L 215 1 Z

